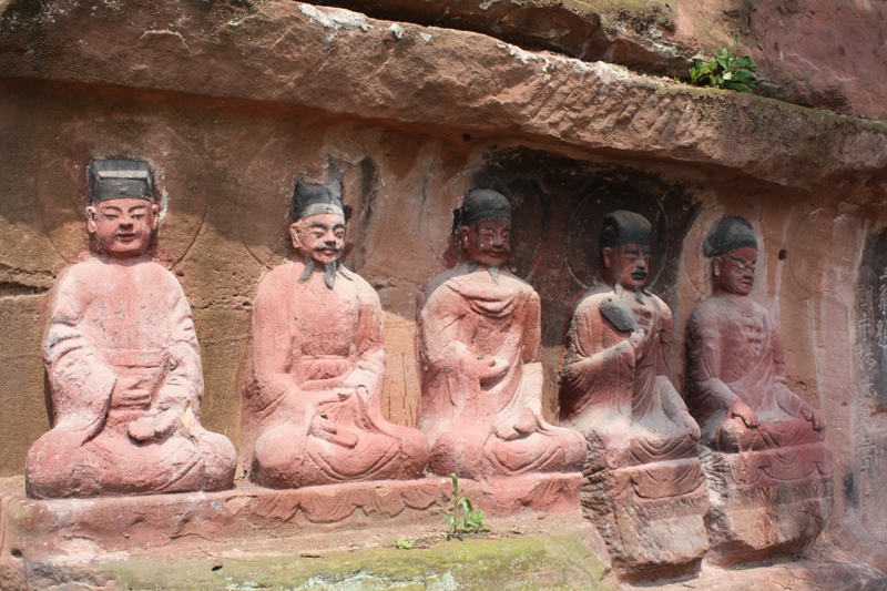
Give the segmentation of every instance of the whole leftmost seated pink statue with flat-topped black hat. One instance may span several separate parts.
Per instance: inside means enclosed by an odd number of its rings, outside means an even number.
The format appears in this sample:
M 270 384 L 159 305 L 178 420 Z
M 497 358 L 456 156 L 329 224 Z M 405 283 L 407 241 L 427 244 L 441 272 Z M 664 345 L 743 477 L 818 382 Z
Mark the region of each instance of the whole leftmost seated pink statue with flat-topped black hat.
M 185 294 L 147 254 L 157 205 L 147 164 L 93 163 L 98 253 L 50 300 L 43 359 L 53 427 L 28 454 L 34 498 L 223 490 L 236 452 L 201 427 L 203 373 Z

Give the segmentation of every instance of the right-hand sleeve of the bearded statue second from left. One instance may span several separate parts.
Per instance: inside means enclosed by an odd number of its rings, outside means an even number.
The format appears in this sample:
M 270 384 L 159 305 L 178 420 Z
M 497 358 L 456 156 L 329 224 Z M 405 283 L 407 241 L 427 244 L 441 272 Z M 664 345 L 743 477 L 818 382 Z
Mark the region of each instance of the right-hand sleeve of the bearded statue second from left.
M 338 281 L 341 281 L 340 278 Z M 369 400 L 380 400 L 385 381 L 385 318 L 379 296 L 366 282 L 355 276 L 359 322 L 355 343 L 356 364 L 345 386 L 367 389 Z

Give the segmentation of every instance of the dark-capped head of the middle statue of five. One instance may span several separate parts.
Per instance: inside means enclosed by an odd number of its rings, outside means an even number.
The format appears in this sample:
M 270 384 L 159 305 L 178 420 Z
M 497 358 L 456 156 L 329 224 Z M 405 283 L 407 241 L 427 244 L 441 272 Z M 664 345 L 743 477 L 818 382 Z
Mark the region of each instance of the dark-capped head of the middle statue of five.
M 453 233 L 469 261 L 500 267 L 511 258 L 511 204 L 492 188 L 472 188 L 452 212 Z

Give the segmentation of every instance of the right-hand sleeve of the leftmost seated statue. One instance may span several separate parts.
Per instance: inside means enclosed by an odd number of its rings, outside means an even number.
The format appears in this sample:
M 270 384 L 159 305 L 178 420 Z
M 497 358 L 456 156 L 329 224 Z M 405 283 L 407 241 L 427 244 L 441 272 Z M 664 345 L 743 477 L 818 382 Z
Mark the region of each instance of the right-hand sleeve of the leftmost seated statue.
M 169 345 L 169 373 L 161 388 L 156 407 L 159 410 L 175 408 L 184 410 L 188 404 L 195 416 L 200 418 L 203 400 L 203 369 L 201 367 L 201 349 L 197 344 L 197 332 L 191 317 L 182 286 L 169 272 L 164 276 L 170 284 L 171 302 L 171 338 Z

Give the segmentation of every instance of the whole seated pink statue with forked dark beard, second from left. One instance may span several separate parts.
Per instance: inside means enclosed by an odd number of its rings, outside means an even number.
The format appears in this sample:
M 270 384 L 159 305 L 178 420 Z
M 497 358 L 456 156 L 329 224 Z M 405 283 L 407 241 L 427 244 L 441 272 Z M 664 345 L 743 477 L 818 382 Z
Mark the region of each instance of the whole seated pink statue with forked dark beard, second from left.
M 383 310 L 341 266 L 341 186 L 298 181 L 296 254 L 262 278 L 243 388 L 241 461 L 268 488 L 418 478 L 428 442 L 381 415 Z

